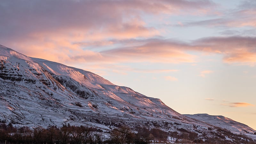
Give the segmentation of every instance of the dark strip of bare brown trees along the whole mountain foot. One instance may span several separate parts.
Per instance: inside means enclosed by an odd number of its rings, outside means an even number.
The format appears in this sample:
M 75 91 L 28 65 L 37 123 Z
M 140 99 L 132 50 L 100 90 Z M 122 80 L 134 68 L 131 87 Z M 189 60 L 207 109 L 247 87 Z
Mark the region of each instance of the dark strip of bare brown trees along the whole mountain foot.
M 209 130 L 212 136 L 202 133 L 204 140 L 198 133 L 189 132 L 180 128 L 174 132 L 164 132 L 158 128 L 148 129 L 136 127 L 133 131 L 127 126 L 119 126 L 110 131 L 103 132 L 99 128 L 89 126 L 74 126 L 63 124 L 61 127 L 40 126 L 29 128 L 14 127 L 12 123 L 0 123 L 0 144 L 148 144 L 163 141 L 167 138 L 177 143 L 248 143 L 256 144 L 252 139 L 243 135 L 236 135 L 230 131 L 218 129 L 216 132 Z M 228 136 L 227 140 L 225 136 Z

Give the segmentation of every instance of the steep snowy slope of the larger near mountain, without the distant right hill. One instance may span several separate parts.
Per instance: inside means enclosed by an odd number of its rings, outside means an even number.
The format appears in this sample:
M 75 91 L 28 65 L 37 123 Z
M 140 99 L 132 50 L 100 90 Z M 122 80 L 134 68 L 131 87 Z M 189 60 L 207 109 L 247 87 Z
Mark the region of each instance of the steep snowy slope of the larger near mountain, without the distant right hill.
M 4 46 L 1 46 L 0 53 L 0 115 L 7 121 L 43 125 L 80 121 L 82 118 L 74 115 L 74 110 L 79 115 L 188 118 L 159 99 L 114 85 L 91 72 L 30 58 Z M 75 106 L 76 103 L 83 107 Z

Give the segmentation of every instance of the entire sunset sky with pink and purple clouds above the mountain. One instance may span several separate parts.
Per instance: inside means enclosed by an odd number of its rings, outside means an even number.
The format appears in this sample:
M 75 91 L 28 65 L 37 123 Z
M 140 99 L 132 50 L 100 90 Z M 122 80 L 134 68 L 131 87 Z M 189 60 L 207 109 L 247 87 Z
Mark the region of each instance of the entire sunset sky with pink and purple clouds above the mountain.
M 255 0 L 2 0 L 0 44 L 256 130 Z

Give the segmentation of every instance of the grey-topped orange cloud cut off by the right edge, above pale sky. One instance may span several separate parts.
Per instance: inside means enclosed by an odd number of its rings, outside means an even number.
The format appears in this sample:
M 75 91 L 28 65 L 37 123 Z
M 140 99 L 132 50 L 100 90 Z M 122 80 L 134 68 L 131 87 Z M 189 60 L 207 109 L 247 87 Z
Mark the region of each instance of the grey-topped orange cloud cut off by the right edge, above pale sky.
M 208 37 L 194 41 L 194 44 L 206 52 L 221 53 L 226 63 L 240 63 L 255 65 L 256 63 L 256 37 L 230 36 Z

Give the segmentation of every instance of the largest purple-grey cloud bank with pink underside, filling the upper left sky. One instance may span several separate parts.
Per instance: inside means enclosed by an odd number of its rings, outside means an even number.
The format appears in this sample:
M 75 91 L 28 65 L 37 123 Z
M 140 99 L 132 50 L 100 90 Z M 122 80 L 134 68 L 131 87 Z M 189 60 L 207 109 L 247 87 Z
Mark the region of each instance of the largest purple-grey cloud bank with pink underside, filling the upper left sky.
M 146 27 L 141 15 L 173 14 L 180 11 L 203 11 L 211 1 L 187 0 L 119 0 L 76 1 L 38 0 L 9 1 L 0 5 L 1 38 L 19 38 L 43 33 L 83 35 L 90 37 L 148 36 L 155 29 Z M 12 9 L 12 11 L 10 11 Z M 74 32 L 73 34 L 70 32 Z M 22 38 L 22 37 L 20 37 Z

